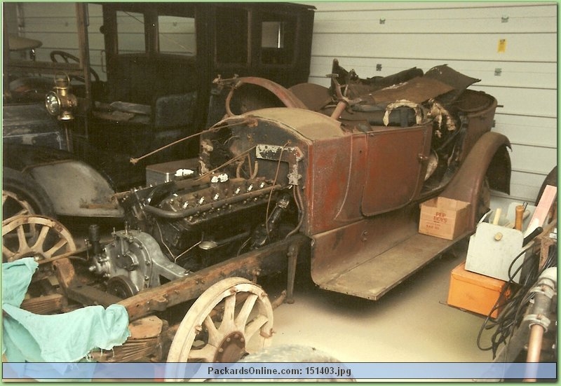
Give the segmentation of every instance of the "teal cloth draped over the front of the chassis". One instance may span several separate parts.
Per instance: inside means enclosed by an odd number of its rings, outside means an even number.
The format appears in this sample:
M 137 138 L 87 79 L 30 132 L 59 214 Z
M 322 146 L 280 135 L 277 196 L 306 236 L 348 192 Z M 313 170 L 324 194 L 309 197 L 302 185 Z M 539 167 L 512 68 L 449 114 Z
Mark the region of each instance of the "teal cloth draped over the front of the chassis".
M 8 361 L 75 362 L 92 350 L 111 350 L 130 336 L 122 305 L 92 305 L 60 315 L 35 315 L 20 305 L 38 264 L 2 263 L 2 354 Z

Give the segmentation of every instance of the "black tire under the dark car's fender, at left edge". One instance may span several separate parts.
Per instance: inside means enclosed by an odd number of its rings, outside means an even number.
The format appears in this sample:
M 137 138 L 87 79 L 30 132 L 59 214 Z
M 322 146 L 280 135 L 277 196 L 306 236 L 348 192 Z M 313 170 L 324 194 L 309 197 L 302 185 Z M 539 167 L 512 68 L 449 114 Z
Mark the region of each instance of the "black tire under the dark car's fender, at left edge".
M 41 214 L 55 219 L 55 209 L 47 193 L 37 182 L 22 172 L 4 167 L 2 172 L 2 192 L 13 195 L 16 200 L 8 199 L 2 206 L 2 220 L 17 214 L 22 202 L 27 202 L 30 214 Z M 19 201 L 19 202 L 18 202 Z

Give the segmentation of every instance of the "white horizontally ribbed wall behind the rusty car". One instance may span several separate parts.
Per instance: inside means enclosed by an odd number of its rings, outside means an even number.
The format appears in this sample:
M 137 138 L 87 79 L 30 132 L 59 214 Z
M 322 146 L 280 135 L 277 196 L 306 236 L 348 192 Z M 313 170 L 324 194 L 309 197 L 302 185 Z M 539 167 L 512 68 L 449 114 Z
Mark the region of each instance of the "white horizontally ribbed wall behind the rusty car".
M 311 83 L 332 60 L 363 78 L 438 64 L 481 81 L 499 102 L 496 132 L 511 140 L 511 196 L 534 202 L 557 165 L 557 4 L 333 2 L 316 6 Z M 505 203 L 506 202 L 506 203 Z

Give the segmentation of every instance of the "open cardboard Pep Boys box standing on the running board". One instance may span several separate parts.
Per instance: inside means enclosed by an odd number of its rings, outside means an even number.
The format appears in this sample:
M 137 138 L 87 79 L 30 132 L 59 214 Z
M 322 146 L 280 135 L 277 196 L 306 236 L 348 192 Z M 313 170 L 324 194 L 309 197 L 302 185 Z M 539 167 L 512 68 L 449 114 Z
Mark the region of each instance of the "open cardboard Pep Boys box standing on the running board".
M 468 228 L 469 202 L 437 197 L 421 204 L 419 233 L 454 240 Z

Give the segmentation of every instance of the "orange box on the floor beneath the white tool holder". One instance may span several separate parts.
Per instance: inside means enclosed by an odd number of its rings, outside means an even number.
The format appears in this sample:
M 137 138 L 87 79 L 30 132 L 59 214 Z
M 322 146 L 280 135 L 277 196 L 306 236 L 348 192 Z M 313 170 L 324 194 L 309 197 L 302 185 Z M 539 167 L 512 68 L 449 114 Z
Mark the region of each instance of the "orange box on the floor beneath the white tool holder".
M 469 272 L 465 269 L 465 265 L 466 263 L 461 263 L 450 273 L 447 303 L 463 310 L 487 316 L 501 297 L 506 282 Z M 508 298 L 508 294 L 504 295 L 505 298 L 499 301 L 499 305 Z M 493 310 L 491 317 L 496 319 L 500 310 L 500 307 Z

